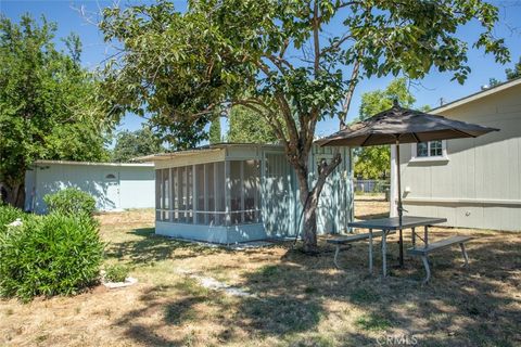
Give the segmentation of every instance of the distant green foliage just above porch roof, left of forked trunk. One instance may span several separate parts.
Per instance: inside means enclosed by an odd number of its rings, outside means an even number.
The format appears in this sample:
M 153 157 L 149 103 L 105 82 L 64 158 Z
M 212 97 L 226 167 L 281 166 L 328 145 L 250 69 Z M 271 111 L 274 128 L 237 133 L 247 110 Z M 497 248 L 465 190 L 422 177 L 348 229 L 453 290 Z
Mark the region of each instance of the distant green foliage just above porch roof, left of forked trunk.
M 276 143 L 277 136 L 255 112 L 234 106 L 228 117 L 228 141 L 239 143 Z

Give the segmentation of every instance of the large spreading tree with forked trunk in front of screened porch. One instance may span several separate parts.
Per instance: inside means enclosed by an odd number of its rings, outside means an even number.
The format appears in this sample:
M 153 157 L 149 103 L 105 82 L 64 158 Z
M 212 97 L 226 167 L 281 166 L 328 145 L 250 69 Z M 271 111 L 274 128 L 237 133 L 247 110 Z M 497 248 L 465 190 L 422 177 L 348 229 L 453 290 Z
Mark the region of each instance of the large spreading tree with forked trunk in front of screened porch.
M 105 69 L 105 94 L 122 115 L 150 113 L 175 145 L 202 138 L 215 108 L 243 105 L 268 124 L 296 172 L 304 248 L 314 250 L 316 209 L 336 154 L 309 175 L 319 120 L 345 123 L 361 78 L 422 78 L 431 68 L 463 82 L 468 43 L 508 60 L 493 37 L 497 9 L 481 0 L 192 0 L 106 9 L 100 27 L 119 51 Z M 316 178 L 316 179 L 315 179 Z

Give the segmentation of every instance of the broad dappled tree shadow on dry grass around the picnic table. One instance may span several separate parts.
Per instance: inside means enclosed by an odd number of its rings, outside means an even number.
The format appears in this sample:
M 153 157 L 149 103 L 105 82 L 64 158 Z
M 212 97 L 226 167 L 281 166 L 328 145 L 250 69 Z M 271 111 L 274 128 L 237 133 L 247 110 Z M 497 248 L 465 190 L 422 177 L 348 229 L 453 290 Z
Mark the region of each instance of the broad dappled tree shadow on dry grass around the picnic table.
M 431 258 L 434 275 L 425 286 L 410 281 L 423 277 L 416 259 L 409 259 L 406 270 L 395 270 L 395 277 L 368 278 L 366 247 L 357 244 L 342 255 L 350 265 L 346 271 L 333 270 L 331 254 L 310 257 L 288 250 L 272 265 L 243 275 L 242 285 L 253 297 L 207 291 L 190 278 L 170 287 L 153 287 L 140 298 L 145 307 L 128 312 L 118 325 L 126 326 L 132 339 L 156 346 L 189 344 L 194 336 L 183 330 L 187 324 L 214 327 L 214 333 L 201 337 L 202 345 L 243 343 L 244 336 L 252 344 L 274 337 L 282 345 L 374 345 L 374 334 L 385 336 L 396 330 L 421 336 L 421 346 L 521 343 L 521 299 L 508 292 L 520 287 L 519 242 L 495 241 L 494 236 L 476 240 L 468 247 L 469 270 L 459 267 L 458 249 L 436 253 Z M 390 253 L 396 250 L 391 243 Z M 262 249 L 250 257 L 255 254 Z M 378 268 L 379 259 L 376 261 Z M 351 323 L 355 331 L 323 332 L 323 325 L 319 327 L 322 319 L 347 319 L 352 313 L 345 307 L 363 312 Z M 154 316 L 160 319 L 140 323 Z

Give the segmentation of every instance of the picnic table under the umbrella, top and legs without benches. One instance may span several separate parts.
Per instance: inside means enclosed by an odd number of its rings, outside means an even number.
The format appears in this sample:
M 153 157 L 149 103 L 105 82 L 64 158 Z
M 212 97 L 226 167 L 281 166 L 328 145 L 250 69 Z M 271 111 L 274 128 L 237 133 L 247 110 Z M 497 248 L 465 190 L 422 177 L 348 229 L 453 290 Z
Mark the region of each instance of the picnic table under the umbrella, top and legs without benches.
M 416 228 L 423 227 L 423 243 L 425 247 L 429 244 L 429 227 L 432 224 L 440 224 L 446 222 L 446 218 L 434 218 L 434 217 L 414 217 L 414 216 L 404 216 L 402 217 L 402 221 L 399 217 L 391 217 L 391 218 L 379 218 L 379 219 L 369 219 L 363 221 L 354 221 L 347 223 L 348 227 L 352 228 L 361 228 L 369 230 L 369 272 L 372 273 L 372 236 L 373 230 L 380 230 L 382 236 L 382 273 L 385 278 L 387 275 L 387 264 L 386 264 L 386 254 L 387 254 L 387 245 L 386 245 L 386 235 L 392 232 L 399 231 L 399 256 L 401 256 L 401 265 L 403 264 L 403 236 L 402 230 L 410 229 L 411 236 L 412 236 L 412 247 L 416 247 Z M 379 233 L 380 235 L 380 233 Z

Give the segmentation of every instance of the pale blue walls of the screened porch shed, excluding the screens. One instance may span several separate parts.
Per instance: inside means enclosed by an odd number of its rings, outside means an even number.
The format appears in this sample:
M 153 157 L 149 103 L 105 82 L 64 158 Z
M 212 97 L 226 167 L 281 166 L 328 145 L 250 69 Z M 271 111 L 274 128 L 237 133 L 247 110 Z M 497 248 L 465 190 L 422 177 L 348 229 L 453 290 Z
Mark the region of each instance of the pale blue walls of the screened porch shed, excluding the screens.
M 213 151 L 213 152 L 211 152 Z M 333 149 L 314 147 L 309 167 L 312 180 L 317 175 L 317 160 L 332 158 Z M 318 209 L 318 232 L 346 231 L 352 220 L 352 163 L 351 151 L 340 147 L 343 160 L 328 178 Z M 219 226 L 183 224 L 156 220 L 156 233 L 178 239 L 213 243 L 237 243 L 275 237 L 295 236 L 302 208 L 295 172 L 285 159 L 281 146 L 228 145 L 220 151 L 208 150 L 156 162 L 156 169 L 195 165 L 202 163 L 258 159 L 260 160 L 262 223 Z M 201 160 L 201 162 L 199 162 Z M 156 214 L 157 215 L 157 214 Z

